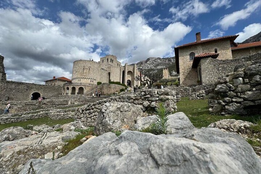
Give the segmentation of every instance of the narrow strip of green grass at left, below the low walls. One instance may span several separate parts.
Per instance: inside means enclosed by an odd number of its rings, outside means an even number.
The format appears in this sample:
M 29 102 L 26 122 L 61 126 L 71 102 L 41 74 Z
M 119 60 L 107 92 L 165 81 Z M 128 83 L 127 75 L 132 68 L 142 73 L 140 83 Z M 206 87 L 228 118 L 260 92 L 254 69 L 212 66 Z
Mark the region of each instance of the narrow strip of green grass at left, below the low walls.
M 0 131 L 2 131 L 3 129 L 5 129 L 7 127 L 11 127 L 11 126 L 26 127 L 29 124 L 32 124 L 34 126 L 39 126 L 39 125 L 43 125 L 43 124 L 46 124 L 48 126 L 54 126 L 56 124 L 65 124 L 65 123 L 70 123 L 70 122 L 73 122 L 73 121 L 74 121 L 74 119 L 54 120 L 54 119 L 50 119 L 49 117 L 43 117 L 43 118 L 38 118 L 38 119 L 30 119 L 30 120 L 27 120 L 27 121 L 19 121 L 19 122 L 15 122 L 15 123 L 1 124 L 0 125 Z

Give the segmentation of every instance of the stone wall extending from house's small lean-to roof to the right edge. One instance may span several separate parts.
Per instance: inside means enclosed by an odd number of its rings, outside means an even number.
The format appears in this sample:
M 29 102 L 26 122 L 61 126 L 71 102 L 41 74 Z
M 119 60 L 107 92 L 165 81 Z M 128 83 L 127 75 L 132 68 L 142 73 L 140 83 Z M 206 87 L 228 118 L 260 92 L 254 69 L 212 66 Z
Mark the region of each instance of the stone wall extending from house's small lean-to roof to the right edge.
M 215 83 L 220 76 L 225 76 L 226 74 L 233 72 L 236 65 L 246 63 L 251 60 L 258 60 L 260 59 L 260 55 L 261 52 L 232 60 L 219 60 L 211 58 L 201 59 L 199 65 L 201 66 L 201 82 L 203 85 Z

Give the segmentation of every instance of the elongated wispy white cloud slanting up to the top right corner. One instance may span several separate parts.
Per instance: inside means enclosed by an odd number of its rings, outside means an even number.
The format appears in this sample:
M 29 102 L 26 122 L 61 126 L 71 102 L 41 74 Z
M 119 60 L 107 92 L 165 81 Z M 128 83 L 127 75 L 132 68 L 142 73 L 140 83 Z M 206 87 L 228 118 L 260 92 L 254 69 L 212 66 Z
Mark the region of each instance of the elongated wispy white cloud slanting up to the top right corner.
M 218 22 L 218 25 L 220 25 L 223 30 L 227 30 L 228 27 L 235 26 L 237 21 L 248 18 L 260 6 L 261 0 L 249 1 L 245 4 L 246 8 L 223 16 Z

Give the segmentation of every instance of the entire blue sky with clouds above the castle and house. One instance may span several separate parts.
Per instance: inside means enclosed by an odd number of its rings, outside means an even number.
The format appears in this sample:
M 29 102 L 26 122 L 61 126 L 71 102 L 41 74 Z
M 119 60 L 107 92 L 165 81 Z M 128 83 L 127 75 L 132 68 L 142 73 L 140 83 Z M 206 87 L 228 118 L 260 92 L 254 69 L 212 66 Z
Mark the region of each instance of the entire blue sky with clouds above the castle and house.
M 261 31 L 261 0 L 1 0 L 7 79 L 71 79 L 73 62 L 115 55 L 124 65 L 174 57 L 201 38 Z

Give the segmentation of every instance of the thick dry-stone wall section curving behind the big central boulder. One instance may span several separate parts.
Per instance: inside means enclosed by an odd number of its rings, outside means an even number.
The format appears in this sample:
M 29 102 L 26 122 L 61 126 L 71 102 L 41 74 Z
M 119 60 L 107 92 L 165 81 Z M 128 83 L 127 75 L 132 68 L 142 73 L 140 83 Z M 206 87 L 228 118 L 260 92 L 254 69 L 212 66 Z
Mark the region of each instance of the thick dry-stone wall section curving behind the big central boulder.
M 163 102 L 164 106 L 170 111 L 177 109 L 176 102 L 179 100 L 175 91 L 165 89 L 146 89 L 142 88 L 135 93 L 126 93 L 125 95 L 117 95 L 108 99 L 90 103 L 78 108 L 74 119 L 86 123 L 87 126 L 94 126 L 99 111 L 106 102 L 127 102 L 139 105 L 143 112 L 154 110 L 158 103 Z

